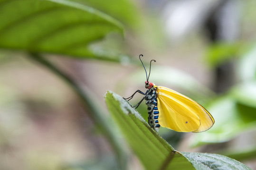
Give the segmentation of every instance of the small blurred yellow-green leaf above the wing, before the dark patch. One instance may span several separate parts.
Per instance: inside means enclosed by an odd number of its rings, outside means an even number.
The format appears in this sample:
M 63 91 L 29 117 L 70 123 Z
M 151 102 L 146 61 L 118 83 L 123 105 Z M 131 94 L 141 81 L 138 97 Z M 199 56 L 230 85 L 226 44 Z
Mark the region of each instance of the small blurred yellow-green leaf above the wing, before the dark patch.
M 211 67 L 234 58 L 241 51 L 239 43 L 216 43 L 209 47 L 206 52 L 206 60 Z

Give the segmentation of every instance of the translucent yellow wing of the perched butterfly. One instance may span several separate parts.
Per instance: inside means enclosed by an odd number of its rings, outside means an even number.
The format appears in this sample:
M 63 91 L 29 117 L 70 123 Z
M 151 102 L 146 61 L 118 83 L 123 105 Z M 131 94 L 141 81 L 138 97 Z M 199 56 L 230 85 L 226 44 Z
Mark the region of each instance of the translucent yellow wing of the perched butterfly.
M 213 117 L 198 102 L 169 88 L 155 87 L 162 127 L 177 132 L 203 132 L 213 126 Z

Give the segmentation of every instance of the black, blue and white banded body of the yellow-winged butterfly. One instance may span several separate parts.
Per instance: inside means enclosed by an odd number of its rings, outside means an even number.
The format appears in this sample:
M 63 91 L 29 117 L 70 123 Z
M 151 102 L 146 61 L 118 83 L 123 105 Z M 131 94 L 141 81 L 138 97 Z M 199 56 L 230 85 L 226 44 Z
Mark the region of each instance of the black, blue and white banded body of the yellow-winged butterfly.
M 148 123 L 156 131 L 159 131 L 160 124 L 158 123 L 159 111 L 157 108 L 156 92 L 154 87 L 146 92 L 146 104 L 148 106 Z

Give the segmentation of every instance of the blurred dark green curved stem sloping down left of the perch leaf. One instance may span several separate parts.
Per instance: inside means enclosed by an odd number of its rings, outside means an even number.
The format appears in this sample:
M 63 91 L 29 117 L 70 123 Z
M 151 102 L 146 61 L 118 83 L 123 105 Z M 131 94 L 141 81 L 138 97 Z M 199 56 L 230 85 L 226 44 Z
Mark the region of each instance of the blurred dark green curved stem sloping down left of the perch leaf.
M 54 74 L 60 77 L 67 85 L 71 87 L 71 89 L 79 96 L 82 104 L 88 111 L 88 115 L 94 121 L 97 127 L 101 130 L 104 136 L 107 138 L 109 144 L 114 149 L 116 153 L 116 157 L 119 162 L 120 169 L 124 170 L 126 167 L 126 153 L 124 152 L 120 141 L 117 138 L 117 135 L 114 133 L 112 126 L 108 123 L 105 118 L 103 111 L 100 110 L 96 102 L 92 100 L 93 93 L 83 87 L 83 89 L 76 84 L 76 82 L 68 75 L 66 75 L 63 71 L 53 65 L 50 61 L 42 57 L 38 53 L 30 53 L 29 57 L 34 59 L 38 63 L 44 65 L 48 69 L 50 69 Z

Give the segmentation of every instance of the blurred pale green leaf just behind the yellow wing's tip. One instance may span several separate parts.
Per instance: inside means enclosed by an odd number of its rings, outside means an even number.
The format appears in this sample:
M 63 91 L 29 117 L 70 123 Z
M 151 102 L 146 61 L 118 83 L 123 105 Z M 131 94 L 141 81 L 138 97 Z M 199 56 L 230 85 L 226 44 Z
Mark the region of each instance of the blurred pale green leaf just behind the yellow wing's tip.
M 219 97 L 206 108 L 215 119 L 215 124 L 203 133 L 194 134 L 191 146 L 226 142 L 244 130 L 245 123 L 240 119 L 232 97 Z

